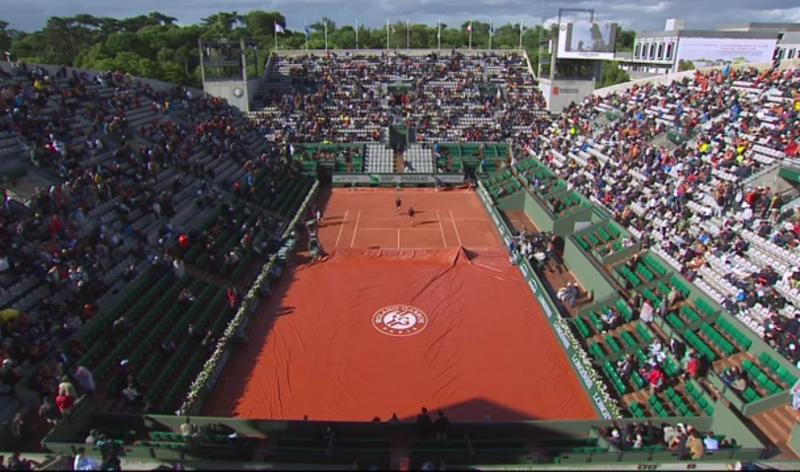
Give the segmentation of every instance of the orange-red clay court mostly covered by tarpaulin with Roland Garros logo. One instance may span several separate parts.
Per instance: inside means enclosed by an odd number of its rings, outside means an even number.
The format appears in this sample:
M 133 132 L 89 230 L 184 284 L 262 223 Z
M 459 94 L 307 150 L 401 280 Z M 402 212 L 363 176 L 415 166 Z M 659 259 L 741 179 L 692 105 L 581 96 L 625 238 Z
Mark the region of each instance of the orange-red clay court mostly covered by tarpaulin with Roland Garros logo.
M 284 274 L 207 416 L 596 418 L 477 194 L 334 190 L 328 255 Z M 412 227 L 405 210 L 417 212 Z

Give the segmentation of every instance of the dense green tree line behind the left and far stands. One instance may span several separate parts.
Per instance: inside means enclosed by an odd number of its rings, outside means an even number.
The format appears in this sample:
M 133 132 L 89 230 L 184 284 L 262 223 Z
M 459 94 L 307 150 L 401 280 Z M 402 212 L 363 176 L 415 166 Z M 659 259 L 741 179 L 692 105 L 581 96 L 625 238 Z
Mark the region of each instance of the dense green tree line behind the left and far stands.
M 120 70 L 153 79 L 176 82 L 184 85 L 200 85 L 200 56 L 198 38 L 204 41 L 240 38 L 255 41 L 259 45 L 260 64 L 248 67 L 252 77 L 256 70 L 263 71 L 269 52 L 275 46 L 275 25 L 286 28 L 286 18 L 277 11 L 253 10 L 240 15 L 236 11 L 218 12 L 203 18 L 198 24 L 178 26 L 174 17 L 154 11 L 147 15 L 130 18 L 95 17 L 77 14 L 72 17 L 52 17 L 44 28 L 31 33 L 10 29 L 11 25 L 0 20 L 0 47 L 10 50 L 15 59 L 29 63 L 79 66 L 88 69 Z M 309 25 L 311 49 L 325 47 L 325 26 L 328 32 L 328 47 L 355 48 L 355 25 L 337 25 L 330 18 L 321 18 Z M 443 49 L 466 47 L 469 23 L 449 27 L 441 25 Z M 489 23 L 474 21 L 472 46 L 487 48 L 489 45 Z M 394 32 L 385 25 L 369 28 L 358 26 L 358 47 L 362 49 L 384 49 L 387 34 L 392 48 L 405 49 L 407 41 L 411 48 L 435 48 L 438 44 L 437 25 L 410 25 L 407 34 L 405 21 L 393 25 Z M 538 61 L 540 38 L 546 42 L 558 33 L 558 26 L 542 29 L 540 26 L 526 27 L 523 46 L 531 61 Z M 620 44 L 628 42 L 628 34 L 622 31 Z M 279 38 L 281 49 L 303 49 L 306 46 L 305 31 L 287 30 Z M 520 25 L 495 25 L 492 47 L 516 49 L 519 46 Z M 255 55 L 248 53 L 248 60 Z M 616 72 L 613 72 L 616 74 Z M 260 75 L 260 74 L 259 74 Z M 617 77 L 616 75 L 610 77 Z M 614 79 L 618 80 L 618 79 Z

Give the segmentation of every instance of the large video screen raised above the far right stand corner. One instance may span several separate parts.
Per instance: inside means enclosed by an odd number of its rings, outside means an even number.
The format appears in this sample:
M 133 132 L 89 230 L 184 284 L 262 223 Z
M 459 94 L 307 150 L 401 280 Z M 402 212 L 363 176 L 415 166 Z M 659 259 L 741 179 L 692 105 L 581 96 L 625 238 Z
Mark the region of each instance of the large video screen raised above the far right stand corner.
M 614 23 L 563 23 L 559 27 L 556 57 L 613 60 L 616 42 Z

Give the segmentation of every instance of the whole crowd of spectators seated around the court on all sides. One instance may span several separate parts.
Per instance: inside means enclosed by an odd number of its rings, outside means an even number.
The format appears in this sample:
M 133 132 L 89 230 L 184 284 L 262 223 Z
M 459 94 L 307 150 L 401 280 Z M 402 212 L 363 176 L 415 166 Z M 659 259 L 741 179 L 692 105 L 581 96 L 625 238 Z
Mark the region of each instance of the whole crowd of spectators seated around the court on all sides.
M 59 421 L 95 391 L 77 365 L 92 346 L 73 334 L 115 293 L 150 264 L 180 277 L 188 246 L 212 251 L 210 271 L 237 262 L 274 218 L 240 224 L 240 212 L 259 210 L 256 194 L 278 195 L 271 177 L 293 175 L 292 144 L 380 142 L 389 125 L 415 129 L 423 144 L 504 141 L 519 159 L 541 159 L 800 366 L 798 193 L 759 180 L 800 155 L 798 84 L 797 69 L 726 68 L 592 95 L 553 117 L 513 53 L 278 56 L 248 120 L 219 99 L 120 73 L 4 72 L 0 155 L 61 183 L 35 189 L 24 205 L 4 194 L 0 394 L 16 400 L 16 383 L 31 374 L 40 417 Z M 218 224 L 197 228 L 221 202 Z M 241 243 L 223 253 L 214 241 L 228 226 Z M 512 263 L 525 257 L 560 272 L 554 243 L 523 234 L 509 247 Z M 235 290 L 228 296 L 235 305 Z M 558 296 L 574 306 L 581 293 L 570 285 Z M 648 303 L 637 308 L 652 317 Z M 613 312 L 605 316 L 613 329 Z M 682 356 L 687 375 L 692 356 Z M 641 367 L 620 362 L 623 371 Z M 657 371 L 645 373 L 654 388 Z M 726 375 L 735 385 L 736 372 Z M 689 427 L 669 434 L 650 425 L 603 432 L 620 446 L 663 442 L 695 459 L 726 447 Z

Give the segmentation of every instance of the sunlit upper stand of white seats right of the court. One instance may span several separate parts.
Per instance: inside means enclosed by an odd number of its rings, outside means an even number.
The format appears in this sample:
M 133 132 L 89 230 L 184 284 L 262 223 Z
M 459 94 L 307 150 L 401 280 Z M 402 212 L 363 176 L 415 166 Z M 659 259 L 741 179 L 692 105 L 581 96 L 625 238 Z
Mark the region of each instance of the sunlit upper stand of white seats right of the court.
M 720 70 L 592 96 L 527 143 L 794 363 L 796 321 L 774 328 L 800 301 L 793 193 L 754 183 L 798 153 L 796 127 L 774 124 L 796 114 L 797 81 L 792 69 Z

